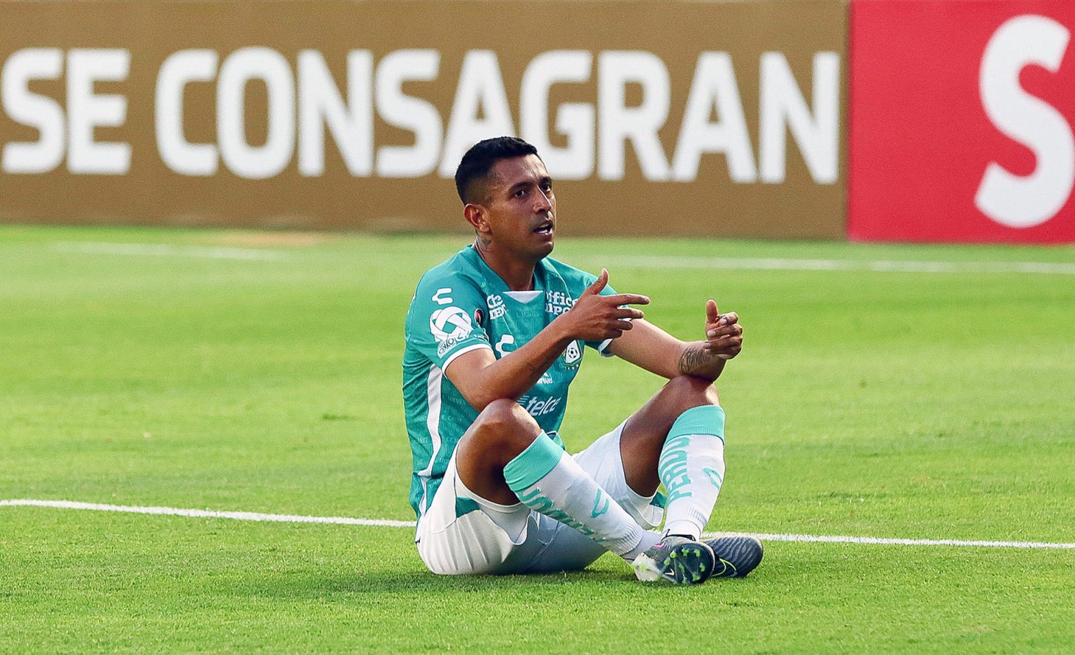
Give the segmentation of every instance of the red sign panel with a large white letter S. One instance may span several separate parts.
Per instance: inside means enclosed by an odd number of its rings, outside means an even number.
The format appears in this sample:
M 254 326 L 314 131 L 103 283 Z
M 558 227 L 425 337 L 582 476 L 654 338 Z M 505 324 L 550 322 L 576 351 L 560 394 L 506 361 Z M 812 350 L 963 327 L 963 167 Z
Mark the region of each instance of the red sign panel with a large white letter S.
M 851 3 L 848 233 L 1075 242 L 1075 2 Z

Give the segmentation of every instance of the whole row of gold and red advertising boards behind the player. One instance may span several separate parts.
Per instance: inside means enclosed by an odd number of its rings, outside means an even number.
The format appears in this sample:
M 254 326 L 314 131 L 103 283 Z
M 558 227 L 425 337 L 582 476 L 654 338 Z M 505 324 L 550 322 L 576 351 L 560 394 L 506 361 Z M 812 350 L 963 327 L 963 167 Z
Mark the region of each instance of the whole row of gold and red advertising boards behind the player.
M 0 3 L 0 221 L 1075 242 L 1067 0 Z

